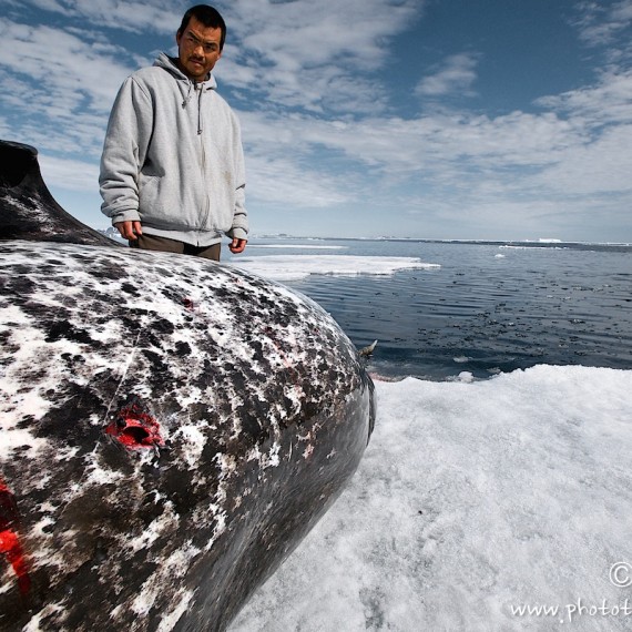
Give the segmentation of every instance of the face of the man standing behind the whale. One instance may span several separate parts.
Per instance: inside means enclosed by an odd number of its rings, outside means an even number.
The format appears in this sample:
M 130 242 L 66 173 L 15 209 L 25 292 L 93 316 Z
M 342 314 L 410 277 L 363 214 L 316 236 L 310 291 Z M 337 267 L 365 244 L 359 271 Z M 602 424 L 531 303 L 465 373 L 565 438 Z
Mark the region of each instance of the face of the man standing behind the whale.
M 194 81 L 204 81 L 222 57 L 222 29 L 205 27 L 192 17 L 183 33 L 175 35 L 181 70 Z

